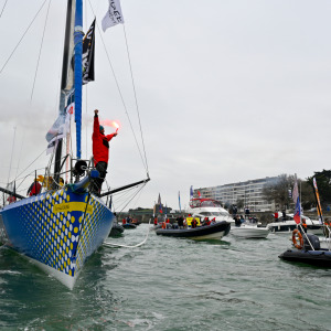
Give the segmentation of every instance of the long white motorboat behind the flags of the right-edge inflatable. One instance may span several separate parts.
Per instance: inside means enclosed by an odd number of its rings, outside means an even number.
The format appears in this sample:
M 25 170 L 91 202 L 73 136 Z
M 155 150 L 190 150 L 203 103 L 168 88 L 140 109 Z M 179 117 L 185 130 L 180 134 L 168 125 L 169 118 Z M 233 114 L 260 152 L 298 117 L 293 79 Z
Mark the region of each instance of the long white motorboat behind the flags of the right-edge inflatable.
M 306 215 L 301 216 L 301 220 L 307 224 L 307 231 L 310 234 L 322 235 L 323 234 L 323 225 L 320 224 L 317 220 L 311 220 Z M 287 214 L 284 220 L 280 215 L 273 223 L 269 223 L 267 227 L 273 233 L 290 233 L 295 228 L 297 228 L 297 223 L 293 220 L 293 214 Z

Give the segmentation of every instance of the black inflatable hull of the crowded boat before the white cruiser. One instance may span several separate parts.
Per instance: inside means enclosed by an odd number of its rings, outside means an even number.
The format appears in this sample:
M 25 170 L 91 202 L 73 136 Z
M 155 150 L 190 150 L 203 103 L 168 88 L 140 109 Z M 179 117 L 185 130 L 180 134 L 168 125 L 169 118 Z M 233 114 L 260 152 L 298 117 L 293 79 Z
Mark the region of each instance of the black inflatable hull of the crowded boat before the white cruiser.
M 162 227 L 156 229 L 157 235 L 169 237 L 190 238 L 195 241 L 201 239 L 221 239 L 229 232 L 231 224 L 228 222 L 214 222 L 210 225 L 196 227 Z

